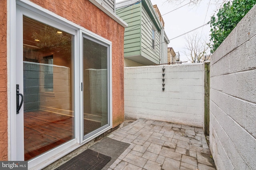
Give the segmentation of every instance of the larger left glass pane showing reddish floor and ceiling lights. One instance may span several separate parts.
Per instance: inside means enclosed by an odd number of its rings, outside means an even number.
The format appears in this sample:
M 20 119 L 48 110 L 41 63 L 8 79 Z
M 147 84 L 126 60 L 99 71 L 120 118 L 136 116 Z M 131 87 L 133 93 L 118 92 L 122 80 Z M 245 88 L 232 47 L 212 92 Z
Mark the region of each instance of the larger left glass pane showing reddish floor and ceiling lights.
M 23 16 L 24 158 L 74 138 L 73 35 Z

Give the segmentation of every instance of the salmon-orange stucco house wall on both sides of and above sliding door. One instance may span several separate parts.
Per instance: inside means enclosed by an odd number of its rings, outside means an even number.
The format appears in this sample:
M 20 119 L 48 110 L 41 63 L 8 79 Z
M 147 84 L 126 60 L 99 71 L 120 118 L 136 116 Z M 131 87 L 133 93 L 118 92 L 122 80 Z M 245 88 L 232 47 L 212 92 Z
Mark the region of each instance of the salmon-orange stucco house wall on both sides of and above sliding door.
M 7 1 L 0 1 L 0 160 L 8 160 Z M 31 0 L 112 41 L 113 127 L 124 121 L 124 27 L 88 0 Z

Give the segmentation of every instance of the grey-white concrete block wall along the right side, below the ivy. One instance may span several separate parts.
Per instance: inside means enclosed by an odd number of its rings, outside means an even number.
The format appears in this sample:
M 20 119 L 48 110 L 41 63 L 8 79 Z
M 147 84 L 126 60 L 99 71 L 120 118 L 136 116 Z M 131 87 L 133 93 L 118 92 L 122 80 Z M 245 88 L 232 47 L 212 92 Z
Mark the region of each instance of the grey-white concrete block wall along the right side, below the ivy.
M 256 6 L 211 57 L 210 150 L 218 170 L 256 169 Z

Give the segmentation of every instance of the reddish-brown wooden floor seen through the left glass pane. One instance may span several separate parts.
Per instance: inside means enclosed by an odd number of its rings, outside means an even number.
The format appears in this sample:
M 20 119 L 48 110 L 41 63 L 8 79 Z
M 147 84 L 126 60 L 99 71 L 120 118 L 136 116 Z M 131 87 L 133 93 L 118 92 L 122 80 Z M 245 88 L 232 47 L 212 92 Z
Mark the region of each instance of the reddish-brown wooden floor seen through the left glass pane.
M 73 138 L 74 117 L 40 110 L 24 112 L 25 160 Z

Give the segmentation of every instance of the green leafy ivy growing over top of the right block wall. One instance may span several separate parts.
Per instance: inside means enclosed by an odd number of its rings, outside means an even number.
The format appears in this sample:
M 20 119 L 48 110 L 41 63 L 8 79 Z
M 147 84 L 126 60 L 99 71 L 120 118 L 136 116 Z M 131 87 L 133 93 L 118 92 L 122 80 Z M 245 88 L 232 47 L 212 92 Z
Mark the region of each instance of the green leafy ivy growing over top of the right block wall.
M 211 53 L 213 53 L 230 32 L 236 27 L 236 24 L 252 9 L 256 0 L 233 0 L 232 3 L 224 4 L 216 16 L 210 20 Z

